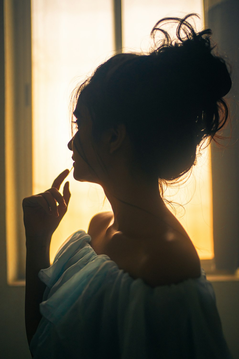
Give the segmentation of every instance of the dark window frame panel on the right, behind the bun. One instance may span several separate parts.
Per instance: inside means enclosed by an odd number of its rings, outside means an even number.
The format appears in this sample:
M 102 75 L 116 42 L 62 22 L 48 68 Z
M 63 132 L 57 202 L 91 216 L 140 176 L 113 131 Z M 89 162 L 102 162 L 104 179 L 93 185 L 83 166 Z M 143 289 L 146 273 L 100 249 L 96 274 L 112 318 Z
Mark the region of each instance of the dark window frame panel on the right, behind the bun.
M 230 275 L 239 278 L 239 196 L 238 187 L 238 130 L 236 128 L 236 111 L 238 91 L 234 83 L 236 67 L 238 67 L 236 48 L 231 43 L 235 29 L 231 22 L 230 3 L 204 0 L 205 27 L 212 29 L 212 42 L 217 44 L 219 54 L 227 61 L 229 71 L 232 66 L 231 78 L 233 81 L 230 93 L 226 95 L 229 104 L 231 123 L 223 129 L 224 141 L 220 141 L 220 148 L 214 141 L 211 143 L 212 163 L 212 208 L 213 208 L 213 238 L 214 238 L 214 264 L 212 274 L 218 276 Z M 221 22 L 224 14 L 228 17 Z

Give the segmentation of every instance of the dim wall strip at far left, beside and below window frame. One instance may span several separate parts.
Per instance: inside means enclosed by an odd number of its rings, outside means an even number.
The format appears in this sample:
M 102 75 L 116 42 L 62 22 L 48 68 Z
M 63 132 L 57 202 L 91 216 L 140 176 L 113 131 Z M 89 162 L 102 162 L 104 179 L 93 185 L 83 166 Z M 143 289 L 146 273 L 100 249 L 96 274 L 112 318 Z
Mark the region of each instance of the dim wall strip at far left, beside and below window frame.
M 24 320 L 24 286 L 8 286 L 6 277 L 4 1 L 0 0 L 0 357 L 31 358 Z

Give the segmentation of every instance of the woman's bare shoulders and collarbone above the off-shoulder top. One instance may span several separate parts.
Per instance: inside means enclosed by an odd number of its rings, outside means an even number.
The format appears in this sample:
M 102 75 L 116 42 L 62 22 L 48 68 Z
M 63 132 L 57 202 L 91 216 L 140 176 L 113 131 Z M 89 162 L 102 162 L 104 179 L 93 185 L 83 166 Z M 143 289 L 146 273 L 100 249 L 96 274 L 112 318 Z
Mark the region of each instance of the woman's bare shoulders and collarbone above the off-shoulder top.
M 177 231 L 162 245 L 160 234 L 149 233 L 145 242 L 115 233 L 104 242 L 104 234 L 114 219 L 113 212 L 96 214 L 90 221 L 88 234 L 95 252 L 106 254 L 132 278 L 142 278 L 151 286 L 179 283 L 201 275 L 200 260 L 192 242 Z M 143 244 L 142 244 L 143 243 Z

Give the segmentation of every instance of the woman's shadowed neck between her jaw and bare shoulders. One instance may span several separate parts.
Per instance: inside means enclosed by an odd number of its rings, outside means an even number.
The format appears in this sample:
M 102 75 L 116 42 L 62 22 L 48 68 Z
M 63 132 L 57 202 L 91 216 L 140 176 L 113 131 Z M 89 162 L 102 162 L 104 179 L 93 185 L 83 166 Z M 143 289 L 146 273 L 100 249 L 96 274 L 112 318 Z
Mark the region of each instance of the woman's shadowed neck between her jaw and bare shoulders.
M 148 227 L 159 223 L 168 213 L 159 192 L 158 180 L 149 183 L 142 178 L 128 178 L 122 182 L 118 178 L 110 190 L 104 186 L 103 189 L 114 213 L 114 223 L 110 227 L 115 232 L 143 235 Z

